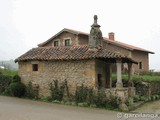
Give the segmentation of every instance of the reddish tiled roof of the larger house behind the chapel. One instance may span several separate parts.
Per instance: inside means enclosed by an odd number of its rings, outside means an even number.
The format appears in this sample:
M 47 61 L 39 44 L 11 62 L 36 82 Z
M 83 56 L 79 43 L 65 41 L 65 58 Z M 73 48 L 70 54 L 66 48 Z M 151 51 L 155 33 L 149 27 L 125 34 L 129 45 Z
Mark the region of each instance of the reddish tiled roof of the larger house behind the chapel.
M 76 34 L 76 35 L 87 35 L 89 36 L 88 33 L 85 33 L 85 32 L 81 32 L 81 31 L 77 31 L 77 30 L 72 30 L 72 29 L 68 29 L 68 28 L 64 28 L 63 30 L 61 30 L 60 32 L 58 32 L 56 35 L 54 35 L 53 37 L 51 37 L 50 39 L 48 39 L 47 41 L 39 44 L 38 46 L 42 47 L 43 45 L 45 45 L 47 42 L 49 42 L 50 40 L 52 40 L 54 37 L 58 36 L 59 34 L 61 34 L 62 32 L 70 32 L 70 33 L 73 33 L 73 34 Z M 119 41 L 116 41 L 116 40 L 110 40 L 106 37 L 103 37 L 104 39 L 104 42 L 107 42 L 107 43 L 110 43 L 110 44 L 113 44 L 113 45 L 116 45 L 116 46 L 119 46 L 119 47 L 122 47 L 122 48 L 126 48 L 126 49 L 129 49 L 129 50 L 137 50 L 137 51 L 143 51 L 143 52 L 147 52 L 147 53 L 154 53 L 154 52 L 151 52 L 149 50 L 145 50 L 143 48 L 140 48 L 140 47 L 136 47 L 136 46 L 133 46 L 133 45 L 129 45 L 129 44 L 126 44 L 126 43 L 122 43 L 122 42 L 119 42 Z

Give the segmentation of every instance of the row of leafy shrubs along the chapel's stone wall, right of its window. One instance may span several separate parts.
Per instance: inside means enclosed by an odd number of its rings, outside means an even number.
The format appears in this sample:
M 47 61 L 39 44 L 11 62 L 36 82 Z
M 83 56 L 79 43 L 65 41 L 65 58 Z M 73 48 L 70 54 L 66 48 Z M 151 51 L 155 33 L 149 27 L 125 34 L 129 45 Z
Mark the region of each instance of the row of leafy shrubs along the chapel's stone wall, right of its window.
M 107 109 L 117 109 L 119 106 L 119 99 L 116 96 L 110 95 L 106 98 L 106 93 L 104 89 L 99 91 L 93 90 L 93 88 L 88 88 L 83 84 L 76 88 L 74 95 L 69 93 L 69 88 L 67 86 L 67 81 L 58 83 L 58 80 L 53 80 L 50 86 L 51 90 L 51 100 L 52 102 L 60 102 L 66 105 L 78 105 L 83 107 L 99 107 Z M 65 99 L 65 95 L 71 99 Z M 74 102 L 73 102 L 74 100 Z M 72 101 L 72 102 L 71 102 Z

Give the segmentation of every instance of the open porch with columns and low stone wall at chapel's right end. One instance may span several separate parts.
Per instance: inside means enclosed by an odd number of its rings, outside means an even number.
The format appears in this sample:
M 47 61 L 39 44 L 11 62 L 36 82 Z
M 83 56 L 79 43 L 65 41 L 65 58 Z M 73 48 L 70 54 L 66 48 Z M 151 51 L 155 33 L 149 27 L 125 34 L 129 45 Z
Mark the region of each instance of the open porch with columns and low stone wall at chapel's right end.
M 98 61 L 100 62 L 100 61 Z M 135 87 L 132 80 L 132 66 L 135 62 L 125 61 L 122 59 L 114 59 L 111 61 L 104 61 L 103 66 L 102 63 L 96 63 L 96 72 L 97 72 L 97 88 L 105 89 L 106 95 L 110 94 L 114 96 L 118 96 L 121 99 L 125 100 L 128 97 L 135 96 Z M 116 63 L 117 67 L 117 80 L 116 86 L 112 87 L 112 64 Z M 123 86 L 122 82 L 122 64 L 127 63 L 128 66 L 128 87 Z M 103 71 L 103 72 L 102 72 Z

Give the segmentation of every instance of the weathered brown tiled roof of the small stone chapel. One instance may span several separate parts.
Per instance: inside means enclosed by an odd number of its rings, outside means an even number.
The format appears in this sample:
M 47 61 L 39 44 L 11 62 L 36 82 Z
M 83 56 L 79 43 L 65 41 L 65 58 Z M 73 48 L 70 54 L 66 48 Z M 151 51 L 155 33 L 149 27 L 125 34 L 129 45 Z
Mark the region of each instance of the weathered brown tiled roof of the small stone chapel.
M 107 49 L 90 50 L 88 46 L 73 47 L 37 47 L 29 50 L 15 62 L 28 60 L 83 60 L 83 59 L 122 59 L 123 62 L 136 63 L 120 53 Z

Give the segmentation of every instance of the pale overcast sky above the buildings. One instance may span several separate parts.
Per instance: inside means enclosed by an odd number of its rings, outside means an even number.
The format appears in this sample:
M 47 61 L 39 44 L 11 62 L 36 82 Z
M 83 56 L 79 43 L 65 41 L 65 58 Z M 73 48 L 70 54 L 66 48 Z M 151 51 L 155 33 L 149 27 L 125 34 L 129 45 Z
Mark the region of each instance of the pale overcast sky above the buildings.
M 0 0 L 0 60 L 15 59 L 63 28 L 89 33 L 93 15 L 104 37 L 155 54 L 150 69 L 160 70 L 159 0 Z

